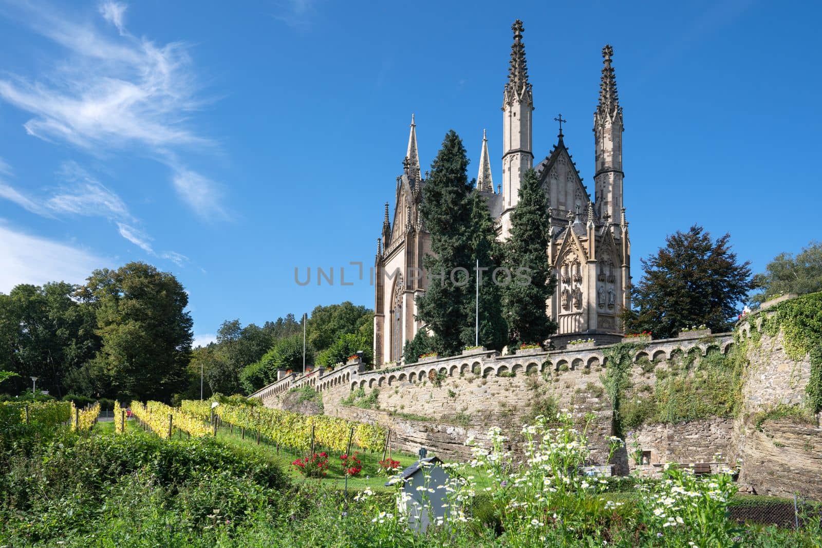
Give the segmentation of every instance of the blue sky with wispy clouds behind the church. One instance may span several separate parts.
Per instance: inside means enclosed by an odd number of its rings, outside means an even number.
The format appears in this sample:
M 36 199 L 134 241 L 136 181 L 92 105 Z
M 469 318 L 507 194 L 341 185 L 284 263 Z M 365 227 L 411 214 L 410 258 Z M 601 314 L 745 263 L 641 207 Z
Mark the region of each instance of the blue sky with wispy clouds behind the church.
M 515 7 L 514 7 L 515 6 Z M 0 292 L 145 260 L 225 319 L 373 306 L 366 279 L 411 113 L 423 169 L 450 128 L 500 182 L 510 25 L 534 154 L 556 122 L 589 185 L 600 50 L 625 111 L 634 275 L 704 225 L 755 271 L 819 238 L 818 2 L 0 0 Z M 335 267 L 335 285 L 294 268 Z M 349 266 L 346 281 L 356 278 Z

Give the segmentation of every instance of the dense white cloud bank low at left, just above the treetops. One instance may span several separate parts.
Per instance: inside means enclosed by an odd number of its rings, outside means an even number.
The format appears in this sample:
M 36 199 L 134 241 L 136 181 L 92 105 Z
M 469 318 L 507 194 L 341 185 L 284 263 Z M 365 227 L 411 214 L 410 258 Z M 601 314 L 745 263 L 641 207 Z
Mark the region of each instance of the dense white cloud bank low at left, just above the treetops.
M 92 270 L 110 264 L 90 251 L 20 232 L 0 219 L 0 292 L 18 283 L 82 283 Z

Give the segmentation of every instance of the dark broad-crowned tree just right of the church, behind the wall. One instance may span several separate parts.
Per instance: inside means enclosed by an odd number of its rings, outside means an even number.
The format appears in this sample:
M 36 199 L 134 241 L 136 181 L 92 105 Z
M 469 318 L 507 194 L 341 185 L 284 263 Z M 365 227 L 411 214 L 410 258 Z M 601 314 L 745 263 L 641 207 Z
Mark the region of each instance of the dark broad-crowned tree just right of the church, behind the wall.
M 750 261 L 737 262 L 730 238 L 726 233 L 713 242 L 698 225 L 666 237 L 665 247 L 642 260 L 643 277 L 631 291 L 634 308 L 621 312 L 626 331 L 667 338 L 690 325 L 730 329 L 737 304 L 753 287 Z

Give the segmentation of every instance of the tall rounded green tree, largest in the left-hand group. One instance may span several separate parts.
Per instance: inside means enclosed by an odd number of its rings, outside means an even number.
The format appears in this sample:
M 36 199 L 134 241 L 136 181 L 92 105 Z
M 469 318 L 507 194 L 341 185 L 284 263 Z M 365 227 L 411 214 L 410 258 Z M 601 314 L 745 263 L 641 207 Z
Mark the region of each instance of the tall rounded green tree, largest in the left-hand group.
M 110 381 L 105 395 L 169 401 L 182 389 L 192 349 L 192 318 L 182 284 L 132 262 L 95 270 L 81 295 L 93 302 L 101 348 L 92 369 Z

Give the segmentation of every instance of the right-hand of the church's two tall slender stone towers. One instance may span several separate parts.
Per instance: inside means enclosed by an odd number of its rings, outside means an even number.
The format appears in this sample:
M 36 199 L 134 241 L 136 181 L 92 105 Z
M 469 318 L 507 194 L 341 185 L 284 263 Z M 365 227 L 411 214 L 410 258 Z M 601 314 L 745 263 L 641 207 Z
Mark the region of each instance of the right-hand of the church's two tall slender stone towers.
M 617 78 L 611 58 L 610 45 L 603 48 L 603 74 L 599 84 L 599 102 L 593 113 L 593 136 L 596 156 L 596 200 L 600 216 L 618 227 L 622 209 L 622 108 L 617 96 Z

